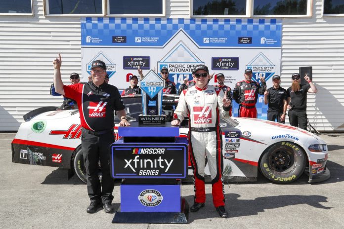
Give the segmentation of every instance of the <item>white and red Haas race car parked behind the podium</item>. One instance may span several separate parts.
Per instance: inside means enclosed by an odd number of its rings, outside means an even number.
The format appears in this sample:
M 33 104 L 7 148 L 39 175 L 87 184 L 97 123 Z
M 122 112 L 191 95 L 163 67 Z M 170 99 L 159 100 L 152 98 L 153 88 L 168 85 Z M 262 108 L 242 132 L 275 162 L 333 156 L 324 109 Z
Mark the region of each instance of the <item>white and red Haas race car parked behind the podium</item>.
M 129 121 L 142 114 L 141 95 L 123 96 Z M 164 95 L 163 111 L 171 121 L 178 95 Z M 12 141 L 12 162 L 53 166 L 73 170 L 86 182 L 81 149 L 78 110 L 36 109 L 24 115 L 24 122 Z M 116 117 L 114 135 L 118 136 Z M 297 127 L 256 118 L 221 118 L 224 181 L 257 181 L 258 171 L 274 183 L 296 181 L 305 172 L 309 183 L 330 178 L 326 168 L 327 145 L 318 136 Z M 187 137 L 188 119 L 181 123 L 181 137 Z M 206 165 L 206 181 L 210 172 Z M 192 176 L 189 163 L 189 178 Z

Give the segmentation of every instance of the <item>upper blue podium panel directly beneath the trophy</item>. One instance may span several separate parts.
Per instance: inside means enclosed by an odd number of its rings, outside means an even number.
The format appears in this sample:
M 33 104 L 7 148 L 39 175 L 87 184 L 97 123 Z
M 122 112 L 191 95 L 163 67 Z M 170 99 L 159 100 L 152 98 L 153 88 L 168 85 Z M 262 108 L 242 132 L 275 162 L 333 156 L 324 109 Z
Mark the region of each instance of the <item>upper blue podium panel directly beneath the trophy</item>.
M 121 137 L 178 137 L 179 127 L 171 126 L 138 126 L 137 122 L 130 123 L 130 126 L 119 126 L 118 135 Z

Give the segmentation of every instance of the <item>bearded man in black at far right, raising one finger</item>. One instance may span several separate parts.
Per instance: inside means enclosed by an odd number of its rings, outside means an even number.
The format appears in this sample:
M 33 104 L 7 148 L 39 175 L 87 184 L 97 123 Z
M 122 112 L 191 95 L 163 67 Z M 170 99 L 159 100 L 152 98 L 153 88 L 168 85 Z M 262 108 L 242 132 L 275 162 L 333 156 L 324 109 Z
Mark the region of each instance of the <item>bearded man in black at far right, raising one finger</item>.
M 295 73 L 292 75 L 293 83 L 287 89 L 287 100 L 290 125 L 307 130 L 307 92 L 316 93 L 318 90 L 307 74 L 304 76 L 304 79 L 308 84 L 300 84 L 300 74 Z

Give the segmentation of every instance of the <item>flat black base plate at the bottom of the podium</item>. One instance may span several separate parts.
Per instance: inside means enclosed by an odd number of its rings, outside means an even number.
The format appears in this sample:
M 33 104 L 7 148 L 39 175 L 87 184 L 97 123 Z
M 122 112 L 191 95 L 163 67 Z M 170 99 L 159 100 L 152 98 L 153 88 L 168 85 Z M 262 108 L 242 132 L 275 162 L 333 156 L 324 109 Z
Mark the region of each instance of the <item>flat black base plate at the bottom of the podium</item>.
M 121 212 L 118 208 L 113 224 L 188 224 L 189 205 L 181 198 L 180 212 Z

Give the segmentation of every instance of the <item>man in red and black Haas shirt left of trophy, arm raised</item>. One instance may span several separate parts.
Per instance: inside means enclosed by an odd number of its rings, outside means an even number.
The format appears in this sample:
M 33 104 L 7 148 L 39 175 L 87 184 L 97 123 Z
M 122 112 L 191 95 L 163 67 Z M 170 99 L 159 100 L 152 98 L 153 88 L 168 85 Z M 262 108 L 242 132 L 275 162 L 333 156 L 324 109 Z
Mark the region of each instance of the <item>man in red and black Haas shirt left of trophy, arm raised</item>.
M 63 85 L 61 56 L 53 61 L 54 85 L 57 93 L 77 101 L 82 125 L 82 150 L 86 168 L 87 192 L 90 204 L 87 213 L 94 213 L 103 205 L 106 213 L 113 212 L 114 180 L 110 175 L 110 144 L 114 138 L 114 110 L 121 118 L 120 126 L 129 126 L 125 106 L 117 87 L 104 82 L 106 66 L 103 61 L 92 62 L 92 81 Z M 100 160 L 102 181 L 98 177 Z

